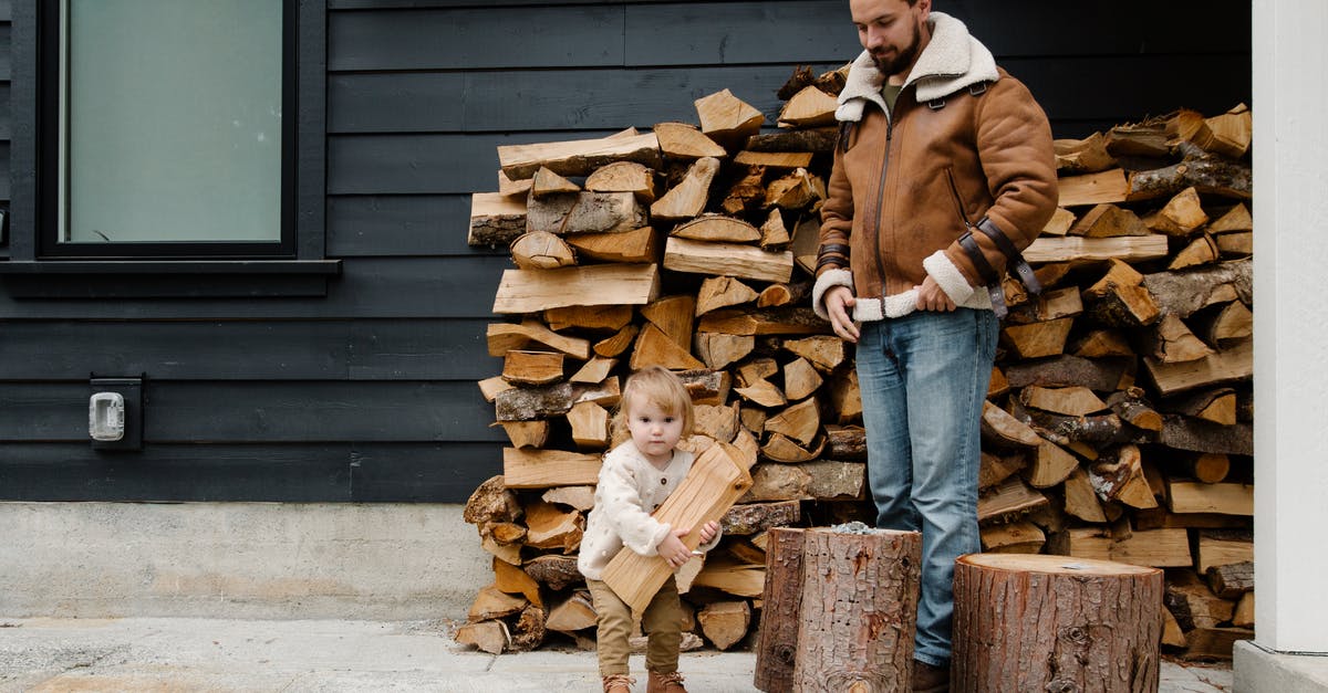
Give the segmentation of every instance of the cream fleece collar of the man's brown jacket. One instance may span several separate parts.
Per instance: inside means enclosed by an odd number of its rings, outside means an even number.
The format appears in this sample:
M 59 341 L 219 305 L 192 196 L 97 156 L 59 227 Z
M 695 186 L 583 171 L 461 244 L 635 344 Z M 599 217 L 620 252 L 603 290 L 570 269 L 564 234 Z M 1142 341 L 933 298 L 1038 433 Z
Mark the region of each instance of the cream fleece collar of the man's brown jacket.
M 968 33 L 963 21 L 932 12 L 928 19 L 931 41 L 918 56 L 918 64 L 904 81 L 904 86 L 915 85 L 918 101 L 932 101 L 947 97 L 977 82 L 995 82 L 996 58 L 977 38 Z M 839 108 L 835 118 L 841 121 L 862 119 L 866 101 L 887 110 L 880 97 L 880 85 L 886 76 L 880 74 L 871 53 L 863 50 L 849 68 L 849 77 L 839 93 Z

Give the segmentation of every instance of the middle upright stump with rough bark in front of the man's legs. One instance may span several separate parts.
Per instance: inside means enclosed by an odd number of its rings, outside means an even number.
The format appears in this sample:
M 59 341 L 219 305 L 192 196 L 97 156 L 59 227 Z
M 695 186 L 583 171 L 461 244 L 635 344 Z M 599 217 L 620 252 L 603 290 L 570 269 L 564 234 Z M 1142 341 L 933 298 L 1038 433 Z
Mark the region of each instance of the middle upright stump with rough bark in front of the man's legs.
M 803 532 L 794 690 L 911 690 L 922 535 Z

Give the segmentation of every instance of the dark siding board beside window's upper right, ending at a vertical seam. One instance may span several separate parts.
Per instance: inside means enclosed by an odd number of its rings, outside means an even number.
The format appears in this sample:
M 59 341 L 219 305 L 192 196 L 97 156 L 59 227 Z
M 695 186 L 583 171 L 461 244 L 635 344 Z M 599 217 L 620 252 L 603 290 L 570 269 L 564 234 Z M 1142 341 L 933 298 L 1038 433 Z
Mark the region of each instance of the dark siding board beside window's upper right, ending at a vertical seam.
M 564 5 L 333 12 L 328 69 L 622 65 L 623 9 Z

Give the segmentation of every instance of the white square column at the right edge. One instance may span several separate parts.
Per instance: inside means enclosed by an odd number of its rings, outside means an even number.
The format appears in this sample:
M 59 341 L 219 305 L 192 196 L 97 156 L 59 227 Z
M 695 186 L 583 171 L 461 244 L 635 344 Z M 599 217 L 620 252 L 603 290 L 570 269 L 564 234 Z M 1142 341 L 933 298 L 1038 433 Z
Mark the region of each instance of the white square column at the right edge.
M 1328 3 L 1252 9 L 1255 643 L 1328 653 Z

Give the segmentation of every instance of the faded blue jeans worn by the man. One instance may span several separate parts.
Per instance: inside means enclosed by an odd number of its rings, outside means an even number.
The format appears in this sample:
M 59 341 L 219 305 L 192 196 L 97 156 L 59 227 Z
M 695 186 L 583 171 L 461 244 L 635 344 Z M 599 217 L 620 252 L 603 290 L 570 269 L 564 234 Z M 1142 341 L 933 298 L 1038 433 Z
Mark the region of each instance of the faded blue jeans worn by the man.
M 858 380 L 876 527 L 922 532 L 914 658 L 951 654 L 955 559 L 981 550 L 977 465 L 996 354 L 991 311 L 915 312 L 863 323 Z

